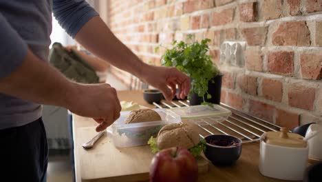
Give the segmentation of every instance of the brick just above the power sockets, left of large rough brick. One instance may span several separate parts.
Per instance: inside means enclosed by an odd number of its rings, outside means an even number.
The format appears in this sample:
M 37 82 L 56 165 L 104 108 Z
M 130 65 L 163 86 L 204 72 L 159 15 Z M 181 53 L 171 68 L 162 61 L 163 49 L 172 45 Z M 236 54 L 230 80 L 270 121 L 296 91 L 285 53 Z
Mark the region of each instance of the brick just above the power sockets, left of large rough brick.
M 267 27 L 244 28 L 241 34 L 246 39 L 248 45 L 264 45 Z

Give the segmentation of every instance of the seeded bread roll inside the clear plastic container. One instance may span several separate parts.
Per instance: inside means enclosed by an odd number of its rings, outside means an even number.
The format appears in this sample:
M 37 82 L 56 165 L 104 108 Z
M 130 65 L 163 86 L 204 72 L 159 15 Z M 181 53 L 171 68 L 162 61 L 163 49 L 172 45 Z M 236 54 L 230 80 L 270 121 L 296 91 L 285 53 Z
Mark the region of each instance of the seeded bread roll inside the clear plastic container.
M 149 122 L 149 121 L 160 121 L 162 120 L 158 112 L 155 112 L 151 109 L 140 109 L 140 110 L 133 110 L 129 117 L 125 120 L 125 123 L 142 123 L 142 122 Z

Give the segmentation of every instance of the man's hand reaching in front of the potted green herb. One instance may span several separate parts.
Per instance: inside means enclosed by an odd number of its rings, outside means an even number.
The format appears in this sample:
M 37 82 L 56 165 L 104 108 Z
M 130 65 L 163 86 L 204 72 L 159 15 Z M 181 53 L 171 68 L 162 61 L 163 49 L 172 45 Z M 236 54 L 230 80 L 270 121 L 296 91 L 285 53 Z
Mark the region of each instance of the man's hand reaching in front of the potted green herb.
M 167 101 L 171 101 L 175 96 L 176 85 L 179 88 L 178 99 L 184 99 L 189 94 L 190 78 L 177 68 L 147 65 L 142 75 L 144 81 L 162 91 Z

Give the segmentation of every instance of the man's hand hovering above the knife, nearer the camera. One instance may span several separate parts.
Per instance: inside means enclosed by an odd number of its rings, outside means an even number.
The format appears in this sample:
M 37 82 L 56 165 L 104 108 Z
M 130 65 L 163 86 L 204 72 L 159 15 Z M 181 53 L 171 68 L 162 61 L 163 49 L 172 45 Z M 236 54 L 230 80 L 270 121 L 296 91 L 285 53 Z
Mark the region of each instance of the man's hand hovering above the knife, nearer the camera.
M 67 92 L 68 108 L 71 112 L 83 117 L 91 117 L 97 123 L 97 132 L 105 130 L 120 117 L 120 101 L 115 88 L 107 83 L 81 85 L 74 84 L 71 92 Z

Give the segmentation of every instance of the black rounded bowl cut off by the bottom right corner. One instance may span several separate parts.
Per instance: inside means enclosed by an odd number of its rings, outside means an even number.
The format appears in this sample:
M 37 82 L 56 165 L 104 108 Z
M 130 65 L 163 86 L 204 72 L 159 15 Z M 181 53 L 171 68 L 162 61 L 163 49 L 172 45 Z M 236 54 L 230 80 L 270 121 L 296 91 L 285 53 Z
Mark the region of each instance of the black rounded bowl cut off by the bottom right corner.
M 310 165 L 304 172 L 303 182 L 320 182 L 322 179 L 322 161 Z

